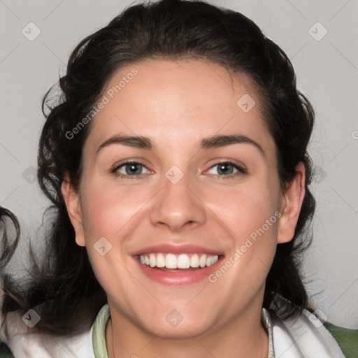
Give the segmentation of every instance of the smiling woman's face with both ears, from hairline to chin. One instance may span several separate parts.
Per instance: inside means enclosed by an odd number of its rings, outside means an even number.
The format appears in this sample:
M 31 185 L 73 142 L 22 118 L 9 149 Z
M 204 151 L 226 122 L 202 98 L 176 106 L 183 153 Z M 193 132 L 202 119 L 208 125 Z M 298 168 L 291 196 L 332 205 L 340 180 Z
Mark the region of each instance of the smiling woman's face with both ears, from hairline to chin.
M 201 60 L 148 60 L 117 71 L 103 94 L 79 191 L 63 193 L 111 312 L 179 337 L 260 310 L 303 196 L 301 177 L 280 189 L 250 79 Z

